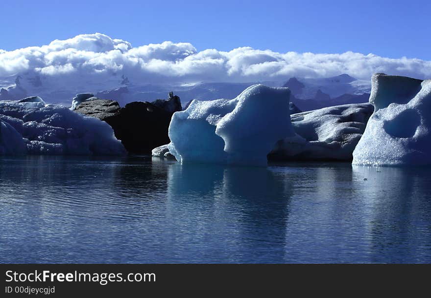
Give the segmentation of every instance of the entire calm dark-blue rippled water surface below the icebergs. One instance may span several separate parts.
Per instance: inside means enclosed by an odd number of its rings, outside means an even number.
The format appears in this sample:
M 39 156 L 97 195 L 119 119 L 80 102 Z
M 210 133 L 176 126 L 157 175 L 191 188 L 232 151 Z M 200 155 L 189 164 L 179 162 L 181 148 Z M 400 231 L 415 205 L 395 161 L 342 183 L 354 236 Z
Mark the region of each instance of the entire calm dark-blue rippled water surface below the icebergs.
M 424 168 L 3 157 L 0 214 L 3 263 L 431 262 Z

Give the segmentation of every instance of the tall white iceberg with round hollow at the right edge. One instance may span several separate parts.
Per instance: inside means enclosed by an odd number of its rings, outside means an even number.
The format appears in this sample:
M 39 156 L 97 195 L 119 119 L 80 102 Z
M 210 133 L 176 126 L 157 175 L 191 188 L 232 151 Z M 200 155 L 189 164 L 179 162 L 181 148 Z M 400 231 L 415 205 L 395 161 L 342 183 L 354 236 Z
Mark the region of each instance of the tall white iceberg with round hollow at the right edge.
M 431 80 L 379 73 L 371 84 L 375 111 L 353 152 L 353 164 L 431 164 Z

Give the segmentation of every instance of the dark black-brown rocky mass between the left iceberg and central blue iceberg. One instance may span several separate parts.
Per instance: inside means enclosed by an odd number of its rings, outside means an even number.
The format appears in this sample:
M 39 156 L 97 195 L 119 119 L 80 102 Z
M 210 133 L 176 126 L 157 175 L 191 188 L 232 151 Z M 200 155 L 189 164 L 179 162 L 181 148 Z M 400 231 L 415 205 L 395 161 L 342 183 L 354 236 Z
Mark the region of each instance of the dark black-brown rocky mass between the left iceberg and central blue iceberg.
M 75 111 L 107 122 L 129 153 L 151 154 L 153 148 L 169 143 L 170 119 L 181 110 L 180 98 L 170 95 L 168 100 L 132 102 L 124 107 L 113 100 L 90 98 Z

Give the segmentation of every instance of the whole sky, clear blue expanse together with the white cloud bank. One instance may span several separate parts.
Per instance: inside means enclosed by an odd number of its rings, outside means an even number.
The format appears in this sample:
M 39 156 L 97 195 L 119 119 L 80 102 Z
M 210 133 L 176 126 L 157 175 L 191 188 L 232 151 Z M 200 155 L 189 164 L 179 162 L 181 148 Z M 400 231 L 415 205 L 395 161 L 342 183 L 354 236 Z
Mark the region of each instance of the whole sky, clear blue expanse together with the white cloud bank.
M 0 8 L 0 88 L 18 77 L 27 90 L 108 90 L 122 76 L 135 85 L 431 78 L 431 1 L 7 0 Z

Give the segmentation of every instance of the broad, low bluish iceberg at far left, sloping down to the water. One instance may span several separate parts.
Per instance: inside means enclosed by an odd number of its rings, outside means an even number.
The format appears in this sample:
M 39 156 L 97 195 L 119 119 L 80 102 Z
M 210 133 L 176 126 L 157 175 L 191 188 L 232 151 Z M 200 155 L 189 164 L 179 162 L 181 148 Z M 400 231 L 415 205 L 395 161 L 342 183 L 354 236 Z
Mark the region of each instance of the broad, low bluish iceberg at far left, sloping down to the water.
M 39 99 L 0 101 L 0 154 L 126 153 L 107 123 Z

